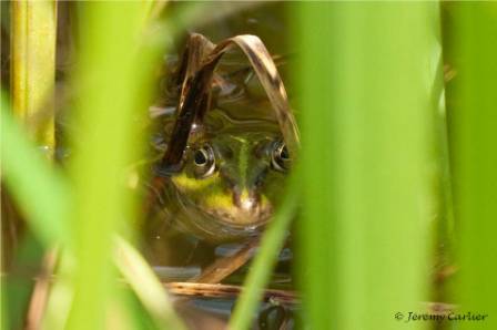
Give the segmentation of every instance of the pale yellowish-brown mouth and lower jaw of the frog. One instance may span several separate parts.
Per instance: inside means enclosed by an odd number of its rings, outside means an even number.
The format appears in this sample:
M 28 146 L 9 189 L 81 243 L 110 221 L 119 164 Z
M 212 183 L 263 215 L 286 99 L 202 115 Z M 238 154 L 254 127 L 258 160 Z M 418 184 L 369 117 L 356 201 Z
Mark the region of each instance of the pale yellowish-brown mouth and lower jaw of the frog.
M 176 198 L 189 218 L 195 223 L 205 224 L 205 227 L 212 227 L 215 223 L 224 229 L 254 231 L 265 225 L 273 215 L 271 204 L 260 203 L 258 200 L 245 199 L 239 205 L 212 207 L 211 205 L 196 204 L 179 190 L 176 190 Z

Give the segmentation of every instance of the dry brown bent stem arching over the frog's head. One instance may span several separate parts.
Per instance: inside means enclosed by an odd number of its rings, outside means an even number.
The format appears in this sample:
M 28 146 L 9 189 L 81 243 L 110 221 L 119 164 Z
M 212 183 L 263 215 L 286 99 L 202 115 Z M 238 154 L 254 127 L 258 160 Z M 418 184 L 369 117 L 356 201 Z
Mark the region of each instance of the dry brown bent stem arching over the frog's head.
M 209 111 L 212 78 L 217 62 L 233 45 L 237 45 L 248 58 L 273 105 L 288 151 L 294 158 L 296 157 L 300 146 L 296 121 L 276 65 L 261 39 L 251 34 L 236 35 L 212 49 L 213 44 L 205 37 L 192 34 L 180 69 L 183 85 L 171 144 L 161 163 L 162 175 L 166 176 L 181 169 L 192 125 L 195 121 L 202 122 Z

